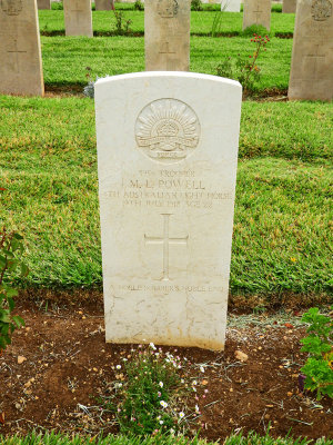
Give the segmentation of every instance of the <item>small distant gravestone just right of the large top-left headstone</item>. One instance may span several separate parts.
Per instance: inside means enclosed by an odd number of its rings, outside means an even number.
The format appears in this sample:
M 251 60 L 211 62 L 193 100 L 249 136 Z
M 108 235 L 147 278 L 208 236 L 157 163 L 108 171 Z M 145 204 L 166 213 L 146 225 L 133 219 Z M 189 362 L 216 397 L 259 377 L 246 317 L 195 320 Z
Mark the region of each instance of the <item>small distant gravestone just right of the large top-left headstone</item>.
M 63 0 L 65 36 L 92 37 L 91 0 Z

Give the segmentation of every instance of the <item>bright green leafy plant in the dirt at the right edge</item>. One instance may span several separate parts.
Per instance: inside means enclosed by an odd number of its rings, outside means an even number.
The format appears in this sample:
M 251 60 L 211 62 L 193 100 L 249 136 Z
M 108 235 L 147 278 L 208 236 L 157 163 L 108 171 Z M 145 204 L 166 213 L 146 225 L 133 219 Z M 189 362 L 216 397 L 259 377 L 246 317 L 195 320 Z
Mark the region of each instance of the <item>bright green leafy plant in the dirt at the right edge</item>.
M 333 398 L 333 318 L 320 314 L 317 307 L 312 307 L 303 315 L 302 322 L 309 324 L 309 335 L 301 339 L 301 350 L 309 353 L 301 368 L 305 375 L 304 387 L 316 390 L 319 400 L 324 395 Z

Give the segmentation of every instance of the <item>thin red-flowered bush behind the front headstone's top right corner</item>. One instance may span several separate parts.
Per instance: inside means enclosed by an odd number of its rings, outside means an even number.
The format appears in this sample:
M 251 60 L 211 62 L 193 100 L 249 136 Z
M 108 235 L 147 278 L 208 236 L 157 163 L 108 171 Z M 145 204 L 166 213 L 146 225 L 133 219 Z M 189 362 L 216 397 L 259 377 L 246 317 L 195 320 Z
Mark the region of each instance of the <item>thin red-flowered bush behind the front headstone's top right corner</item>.
M 255 44 L 253 55 L 246 59 L 241 58 L 240 55 L 235 60 L 231 59 L 231 57 L 226 58 L 216 67 L 216 75 L 238 80 L 242 83 L 244 93 L 253 91 L 255 83 L 260 81 L 261 75 L 261 69 L 256 65 L 258 58 L 261 51 L 266 50 L 265 46 L 269 41 L 268 36 L 261 37 L 255 33 L 251 39 L 251 42 Z

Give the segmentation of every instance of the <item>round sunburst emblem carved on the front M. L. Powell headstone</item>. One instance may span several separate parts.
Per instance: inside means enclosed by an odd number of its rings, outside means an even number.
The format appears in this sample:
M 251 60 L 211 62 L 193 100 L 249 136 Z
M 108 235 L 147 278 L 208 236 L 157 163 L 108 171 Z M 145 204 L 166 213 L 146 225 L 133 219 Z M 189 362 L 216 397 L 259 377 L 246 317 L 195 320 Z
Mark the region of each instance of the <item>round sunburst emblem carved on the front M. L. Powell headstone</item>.
M 151 159 L 173 164 L 194 151 L 200 138 L 200 123 L 186 103 L 159 99 L 140 112 L 135 138 L 139 149 Z

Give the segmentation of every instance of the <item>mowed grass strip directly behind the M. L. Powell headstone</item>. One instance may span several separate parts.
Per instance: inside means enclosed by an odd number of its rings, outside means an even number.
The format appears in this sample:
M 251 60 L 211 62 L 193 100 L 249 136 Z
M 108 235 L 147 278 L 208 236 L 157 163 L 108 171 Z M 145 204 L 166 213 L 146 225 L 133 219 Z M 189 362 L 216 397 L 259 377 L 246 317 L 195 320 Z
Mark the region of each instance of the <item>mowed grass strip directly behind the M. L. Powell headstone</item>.
M 101 286 L 93 101 L 0 100 L 0 215 L 27 243 L 21 285 Z M 330 122 L 327 103 L 243 103 L 232 294 L 330 293 Z

